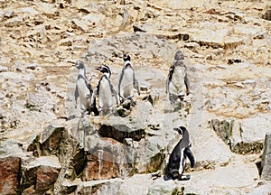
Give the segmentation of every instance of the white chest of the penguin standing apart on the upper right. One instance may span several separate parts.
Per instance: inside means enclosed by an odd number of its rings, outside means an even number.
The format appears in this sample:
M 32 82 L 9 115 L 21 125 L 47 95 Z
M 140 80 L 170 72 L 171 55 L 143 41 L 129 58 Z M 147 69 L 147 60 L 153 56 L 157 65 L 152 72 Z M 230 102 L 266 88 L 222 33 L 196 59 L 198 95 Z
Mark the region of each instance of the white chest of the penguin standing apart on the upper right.
M 185 95 L 184 77 L 185 70 L 182 67 L 175 68 L 172 80 L 169 82 L 169 93 L 177 96 Z

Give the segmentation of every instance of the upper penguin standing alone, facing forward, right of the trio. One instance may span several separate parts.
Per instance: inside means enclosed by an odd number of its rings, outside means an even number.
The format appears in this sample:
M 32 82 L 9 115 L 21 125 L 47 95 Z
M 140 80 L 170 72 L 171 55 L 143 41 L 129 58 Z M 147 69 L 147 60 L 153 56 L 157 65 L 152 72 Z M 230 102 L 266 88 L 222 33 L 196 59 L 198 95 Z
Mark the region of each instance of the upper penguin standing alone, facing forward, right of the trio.
M 186 66 L 183 63 L 184 56 L 182 51 L 176 51 L 173 65 L 170 67 L 168 77 L 166 79 L 165 93 L 169 94 L 171 103 L 183 101 L 183 97 L 188 96 L 189 80 L 187 79 Z

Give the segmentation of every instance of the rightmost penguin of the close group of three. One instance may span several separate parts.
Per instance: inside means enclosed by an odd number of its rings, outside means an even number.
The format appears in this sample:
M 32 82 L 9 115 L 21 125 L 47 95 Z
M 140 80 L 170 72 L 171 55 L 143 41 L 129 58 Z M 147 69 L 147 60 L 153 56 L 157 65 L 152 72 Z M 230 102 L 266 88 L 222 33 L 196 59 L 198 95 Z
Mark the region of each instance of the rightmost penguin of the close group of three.
M 130 62 L 130 55 L 124 54 L 123 60 L 125 61 L 124 68 L 121 71 L 118 82 L 118 97 L 122 104 L 126 99 L 132 100 L 133 89 L 137 90 L 138 96 L 140 95 L 140 89 L 137 79 L 135 79 L 135 70 Z

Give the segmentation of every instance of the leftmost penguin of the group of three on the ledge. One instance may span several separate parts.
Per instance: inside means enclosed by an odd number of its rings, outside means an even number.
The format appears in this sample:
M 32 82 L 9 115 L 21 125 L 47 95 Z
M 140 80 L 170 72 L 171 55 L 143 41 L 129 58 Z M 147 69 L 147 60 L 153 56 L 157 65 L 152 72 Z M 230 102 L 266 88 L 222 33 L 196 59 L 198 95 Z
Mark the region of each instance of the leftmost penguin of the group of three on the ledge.
M 92 95 L 92 88 L 89 84 L 89 80 L 86 77 L 86 68 L 82 61 L 78 60 L 75 63 L 75 67 L 79 70 L 78 78 L 76 80 L 76 88 L 74 91 L 75 108 L 77 107 L 77 100 L 80 99 L 81 116 L 84 116 L 86 112 L 90 112 L 90 98 Z

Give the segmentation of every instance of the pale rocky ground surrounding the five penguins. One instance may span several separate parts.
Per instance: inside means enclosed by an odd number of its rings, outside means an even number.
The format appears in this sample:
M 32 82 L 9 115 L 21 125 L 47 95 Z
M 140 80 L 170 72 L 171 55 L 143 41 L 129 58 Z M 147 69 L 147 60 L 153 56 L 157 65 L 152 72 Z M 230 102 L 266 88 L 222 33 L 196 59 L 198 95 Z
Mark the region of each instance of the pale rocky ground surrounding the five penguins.
M 270 1 L 0 6 L 1 194 L 270 194 Z M 191 94 L 173 111 L 165 79 L 179 49 Z M 117 87 L 123 52 L 142 89 L 136 106 L 80 118 L 74 62 L 93 88 L 109 65 Z M 192 139 L 190 181 L 163 179 L 177 125 Z

